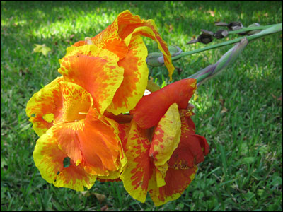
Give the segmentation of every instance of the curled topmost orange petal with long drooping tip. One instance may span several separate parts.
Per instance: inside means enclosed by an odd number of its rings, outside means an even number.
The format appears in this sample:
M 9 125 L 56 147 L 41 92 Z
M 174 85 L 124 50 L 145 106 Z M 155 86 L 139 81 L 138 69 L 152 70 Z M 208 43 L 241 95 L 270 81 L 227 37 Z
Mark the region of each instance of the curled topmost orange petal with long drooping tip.
M 158 43 L 158 48 L 163 53 L 164 63 L 168 69 L 170 79 L 174 67 L 171 61 L 171 54 L 167 44 L 158 33 L 154 20 L 142 20 L 129 11 L 120 13 L 114 22 L 105 30 L 92 38 L 93 44 L 103 49 L 108 49 L 123 59 L 128 53 L 128 46 L 132 42 L 132 36 L 141 35 L 150 37 Z M 86 45 L 85 41 L 76 42 L 73 46 Z

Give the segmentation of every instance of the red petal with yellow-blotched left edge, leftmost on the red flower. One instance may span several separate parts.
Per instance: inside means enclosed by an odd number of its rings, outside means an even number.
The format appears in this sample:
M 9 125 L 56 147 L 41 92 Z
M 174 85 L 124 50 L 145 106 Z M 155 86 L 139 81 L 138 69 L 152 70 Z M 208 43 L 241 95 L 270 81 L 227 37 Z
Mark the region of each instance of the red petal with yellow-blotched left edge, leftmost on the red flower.
M 124 147 L 127 165 L 120 179 L 126 191 L 141 202 L 146 200 L 149 179 L 152 176 L 154 165 L 149 158 L 150 143 L 148 132 L 139 128 L 132 121 L 127 143 Z

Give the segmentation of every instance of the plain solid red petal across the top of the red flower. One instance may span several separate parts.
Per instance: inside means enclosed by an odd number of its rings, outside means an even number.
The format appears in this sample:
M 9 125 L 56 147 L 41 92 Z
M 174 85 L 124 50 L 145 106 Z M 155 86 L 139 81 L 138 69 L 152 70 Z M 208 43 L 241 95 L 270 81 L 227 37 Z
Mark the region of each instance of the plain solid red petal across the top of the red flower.
M 177 81 L 141 98 L 130 113 L 142 128 L 156 126 L 173 103 L 177 103 L 179 109 L 185 109 L 195 89 L 195 79 Z

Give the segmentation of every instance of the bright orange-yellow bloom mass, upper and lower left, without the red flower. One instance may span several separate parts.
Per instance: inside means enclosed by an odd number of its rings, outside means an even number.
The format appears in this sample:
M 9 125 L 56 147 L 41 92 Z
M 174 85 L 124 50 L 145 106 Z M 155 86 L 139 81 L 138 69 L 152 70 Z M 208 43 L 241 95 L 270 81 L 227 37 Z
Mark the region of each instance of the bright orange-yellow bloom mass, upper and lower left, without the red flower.
M 170 53 L 154 21 L 124 11 L 96 37 L 67 48 L 62 76 L 29 100 L 26 113 L 40 136 L 33 158 L 47 182 L 81 191 L 97 177 L 120 176 L 126 158 L 119 124 L 109 117 L 132 110 L 146 89 L 141 36 L 156 40 L 171 77 Z

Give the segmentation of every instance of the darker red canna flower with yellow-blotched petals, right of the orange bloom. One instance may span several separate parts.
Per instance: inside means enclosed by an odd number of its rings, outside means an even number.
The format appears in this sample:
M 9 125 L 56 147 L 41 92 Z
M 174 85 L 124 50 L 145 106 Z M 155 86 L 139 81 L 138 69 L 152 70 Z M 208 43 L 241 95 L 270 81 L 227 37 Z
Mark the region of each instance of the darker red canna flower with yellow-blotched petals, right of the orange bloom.
M 195 89 L 195 79 L 184 79 L 146 95 L 130 111 L 132 122 L 120 124 L 127 157 L 120 179 L 134 199 L 144 202 L 147 192 L 156 206 L 178 199 L 209 153 L 190 118 Z

